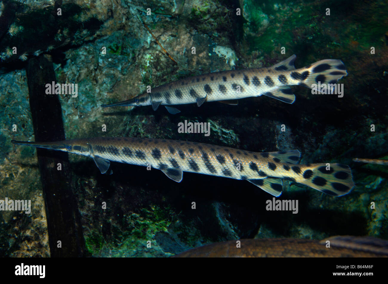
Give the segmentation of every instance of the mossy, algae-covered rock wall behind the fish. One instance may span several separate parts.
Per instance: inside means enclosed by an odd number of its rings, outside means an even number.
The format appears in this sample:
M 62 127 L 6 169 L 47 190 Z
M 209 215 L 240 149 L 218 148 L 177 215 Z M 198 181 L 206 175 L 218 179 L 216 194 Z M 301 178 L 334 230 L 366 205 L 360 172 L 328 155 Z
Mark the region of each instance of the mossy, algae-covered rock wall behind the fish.
M 280 199 L 299 200 L 299 212 L 292 214 L 266 211 L 272 196 L 249 182 L 185 173 L 176 183 L 159 170 L 120 163 L 112 163 L 113 175 L 101 175 L 92 159 L 70 155 L 88 256 L 171 256 L 240 238 L 388 239 L 388 168 L 352 162 L 388 158 L 385 2 L 72 0 L 63 3 L 63 21 L 52 25 L 54 1 L 3 1 L 1 13 L 10 3 L 14 29 L 0 31 L 0 199 L 30 199 L 32 212 L 0 212 L 0 256 L 50 256 L 35 149 L 10 143 L 34 141 L 25 64 L 41 53 L 54 62 L 58 83 L 78 84 L 77 98 L 60 95 L 68 139 L 126 136 L 251 151 L 299 149 L 301 163 L 350 165 L 356 183 L 350 194 L 335 198 L 284 181 Z M 18 46 L 15 55 L 9 54 L 12 46 Z M 177 115 L 164 108 L 100 107 L 136 96 L 147 85 L 271 66 L 292 54 L 296 68 L 341 59 L 348 71 L 339 82 L 343 98 L 294 86 L 293 105 L 262 96 L 238 106 L 184 105 Z M 210 122 L 211 135 L 179 134 L 177 124 L 185 119 Z

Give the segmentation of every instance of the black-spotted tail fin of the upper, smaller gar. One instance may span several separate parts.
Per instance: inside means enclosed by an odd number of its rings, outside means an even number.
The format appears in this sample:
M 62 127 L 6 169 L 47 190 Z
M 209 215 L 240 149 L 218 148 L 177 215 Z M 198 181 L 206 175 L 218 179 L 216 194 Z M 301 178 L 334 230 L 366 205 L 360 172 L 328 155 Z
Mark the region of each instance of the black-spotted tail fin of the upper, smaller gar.
M 313 84 L 336 84 L 339 79 L 346 76 L 345 65 L 338 59 L 324 59 L 301 68 L 301 75 L 308 74 L 307 78 L 299 85 L 314 88 Z M 291 74 L 292 76 L 292 74 Z

